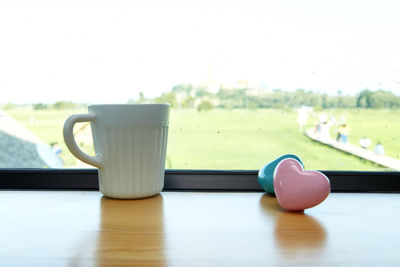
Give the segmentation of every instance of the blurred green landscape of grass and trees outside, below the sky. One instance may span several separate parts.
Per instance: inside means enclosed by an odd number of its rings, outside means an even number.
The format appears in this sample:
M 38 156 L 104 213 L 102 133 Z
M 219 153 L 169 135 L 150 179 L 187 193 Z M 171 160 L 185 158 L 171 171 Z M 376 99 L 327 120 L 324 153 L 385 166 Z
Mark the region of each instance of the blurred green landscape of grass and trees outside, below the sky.
M 391 170 L 306 136 L 307 130 L 317 131 L 322 118 L 331 123 L 332 140 L 345 122 L 349 144 L 360 147 L 360 139 L 368 137 L 371 144 L 366 150 L 373 152 L 381 143 L 385 155 L 400 157 L 400 96 L 383 90 L 329 96 L 303 89 L 290 93 L 249 88 L 241 81 L 237 88 L 213 93 L 206 86 L 179 84 L 159 97 L 139 93 L 126 103 L 171 104 L 166 168 L 259 169 L 282 154 L 294 153 L 307 169 Z M 90 167 L 69 153 L 62 137 L 65 119 L 86 113 L 87 104 L 8 103 L 2 109 L 44 143 L 57 144 L 63 167 Z M 74 133 L 83 150 L 94 154 L 90 125 L 77 124 Z

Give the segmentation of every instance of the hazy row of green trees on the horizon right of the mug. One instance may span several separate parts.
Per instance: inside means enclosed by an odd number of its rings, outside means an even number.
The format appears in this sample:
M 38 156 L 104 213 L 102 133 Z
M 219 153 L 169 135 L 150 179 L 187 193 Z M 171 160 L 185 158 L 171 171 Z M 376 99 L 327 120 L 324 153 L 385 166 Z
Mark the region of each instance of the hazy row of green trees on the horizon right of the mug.
M 269 92 L 254 93 L 253 88 L 220 88 L 211 93 L 206 87 L 179 84 L 170 92 L 154 99 L 156 103 L 170 103 L 172 108 L 197 108 L 199 111 L 211 108 L 296 108 L 311 106 L 329 108 L 400 108 L 400 96 L 384 90 L 362 90 L 356 95 L 345 95 L 338 91 L 335 95 L 297 89 L 288 92 L 274 89 Z

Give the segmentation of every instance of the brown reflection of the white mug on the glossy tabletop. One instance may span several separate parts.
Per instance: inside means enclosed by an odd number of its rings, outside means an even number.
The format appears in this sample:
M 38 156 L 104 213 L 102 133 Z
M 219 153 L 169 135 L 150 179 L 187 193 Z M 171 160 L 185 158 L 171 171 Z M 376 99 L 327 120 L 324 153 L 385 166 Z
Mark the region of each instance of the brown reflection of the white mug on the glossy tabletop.
M 100 202 L 97 266 L 165 265 L 163 197 Z

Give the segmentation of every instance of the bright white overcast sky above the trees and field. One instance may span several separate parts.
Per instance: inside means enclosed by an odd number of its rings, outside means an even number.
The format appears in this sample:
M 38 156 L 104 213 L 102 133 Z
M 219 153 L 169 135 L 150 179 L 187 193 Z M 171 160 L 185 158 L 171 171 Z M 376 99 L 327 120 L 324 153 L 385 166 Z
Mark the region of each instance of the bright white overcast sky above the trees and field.
M 126 103 L 178 83 L 400 94 L 400 1 L 0 0 L 0 103 Z

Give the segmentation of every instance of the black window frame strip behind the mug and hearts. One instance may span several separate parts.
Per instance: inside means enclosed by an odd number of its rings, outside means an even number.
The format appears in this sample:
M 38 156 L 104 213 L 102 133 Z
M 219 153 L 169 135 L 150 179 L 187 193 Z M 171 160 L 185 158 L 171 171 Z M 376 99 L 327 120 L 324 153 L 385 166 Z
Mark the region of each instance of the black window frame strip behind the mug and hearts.
M 321 171 L 332 192 L 400 192 L 400 172 Z M 166 170 L 163 191 L 262 192 L 257 170 Z M 96 169 L 0 169 L 0 190 L 98 190 Z

